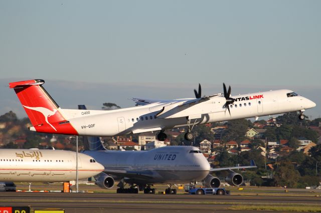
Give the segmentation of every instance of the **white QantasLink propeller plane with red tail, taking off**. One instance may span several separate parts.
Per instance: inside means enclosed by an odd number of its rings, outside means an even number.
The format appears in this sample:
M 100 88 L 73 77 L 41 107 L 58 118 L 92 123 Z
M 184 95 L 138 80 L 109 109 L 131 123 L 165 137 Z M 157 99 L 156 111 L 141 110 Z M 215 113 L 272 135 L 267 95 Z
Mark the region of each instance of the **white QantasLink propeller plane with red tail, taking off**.
M 188 126 L 185 138 L 192 140 L 191 130 L 198 124 L 291 111 L 300 111 L 299 119 L 304 119 L 304 110 L 316 105 L 288 89 L 231 96 L 231 87 L 227 90 L 223 83 L 223 94 L 201 97 L 201 91 L 195 91 L 196 98 L 133 98 L 141 106 L 110 111 L 62 109 L 43 83 L 40 79 L 25 80 L 11 82 L 9 87 L 15 89 L 31 120 L 29 129 L 56 134 L 115 136 L 160 130 L 157 139 L 165 140 L 165 129 Z

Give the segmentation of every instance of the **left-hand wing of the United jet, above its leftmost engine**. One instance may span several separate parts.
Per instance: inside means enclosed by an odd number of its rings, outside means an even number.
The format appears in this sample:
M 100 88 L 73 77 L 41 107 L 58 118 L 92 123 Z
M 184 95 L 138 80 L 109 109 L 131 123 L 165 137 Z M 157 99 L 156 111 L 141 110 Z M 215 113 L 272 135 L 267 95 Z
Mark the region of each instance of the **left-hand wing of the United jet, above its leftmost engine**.
M 150 179 L 154 176 L 152 171 L 142 170 L 142 171 L 127 171 L 127 170 L 112 170 L 112 169 L 105 169 L 104 173 L 116 175 L 118 177 L 128 177 L 128 178 L 135 178 L 135 179 Z

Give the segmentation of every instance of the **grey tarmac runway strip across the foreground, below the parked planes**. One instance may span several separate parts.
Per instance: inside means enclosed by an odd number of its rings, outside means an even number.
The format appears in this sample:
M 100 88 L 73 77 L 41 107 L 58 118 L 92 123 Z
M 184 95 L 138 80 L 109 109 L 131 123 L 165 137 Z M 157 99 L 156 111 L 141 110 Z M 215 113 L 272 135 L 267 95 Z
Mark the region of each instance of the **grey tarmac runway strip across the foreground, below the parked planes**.
M 189 194 L 116 194 L 1 192 L 1 206 L 27 206 L 32 209 L 62 208 L 65 212 L 238 212 L 232 205 L 313 205 L 321 206 L 319 196 L 249 196 Z M 256 211 L 251 211 L 256 212 Z M 276 211 L 273 211 L 276 212 Z

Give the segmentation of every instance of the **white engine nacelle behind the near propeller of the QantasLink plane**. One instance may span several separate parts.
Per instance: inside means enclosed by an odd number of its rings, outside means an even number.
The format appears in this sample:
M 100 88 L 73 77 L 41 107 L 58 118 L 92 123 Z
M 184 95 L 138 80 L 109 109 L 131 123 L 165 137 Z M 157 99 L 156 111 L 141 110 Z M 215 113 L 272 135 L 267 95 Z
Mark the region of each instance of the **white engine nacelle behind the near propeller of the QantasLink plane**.
M 200 103 L 202 103 L 202 106 L 199 107 Z M 177 101 L 163 106 L 163 109 L 158 112 L 157 117 L 177 118 L 191 116 L 193 118 L 200 118 L 201 114 L 225 111 L 225 107 L 223 107 L 225 103 L 225 97 L 218 96 Z M 151 111 L 153 111 L 152 108 L 150 108 Z

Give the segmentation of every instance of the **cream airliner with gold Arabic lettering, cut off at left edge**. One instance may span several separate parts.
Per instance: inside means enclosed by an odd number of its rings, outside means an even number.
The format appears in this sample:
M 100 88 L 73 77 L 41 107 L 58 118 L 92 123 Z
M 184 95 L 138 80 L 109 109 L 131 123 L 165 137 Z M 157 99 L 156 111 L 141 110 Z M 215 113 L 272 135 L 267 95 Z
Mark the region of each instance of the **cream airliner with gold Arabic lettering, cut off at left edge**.
M 78 153 L 78 177 L 88 178 L 104 166 Z M 76 179 L 76 152 L 51 149 L 0 149 L 0 181 L 62 182 Z

